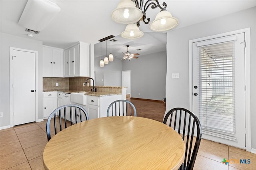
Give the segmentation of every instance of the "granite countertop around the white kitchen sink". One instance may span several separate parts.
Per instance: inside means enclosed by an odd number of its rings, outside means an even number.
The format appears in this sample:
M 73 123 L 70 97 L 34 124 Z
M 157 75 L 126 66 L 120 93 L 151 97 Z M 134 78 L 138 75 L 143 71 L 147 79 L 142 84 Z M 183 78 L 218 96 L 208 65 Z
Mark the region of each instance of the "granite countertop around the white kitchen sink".
M 113 92 L 102 92 L 102 91 L 98 91 L 98 92 L 86 92 L 86 91 L 79 91 L 79 90 L 69 90 L 69 89 L 59 89 L 59 90 L 43 90 L 43 92 L 50 92 L 50 91 L 61 91 L 64 93 L 82 93 L 84 92 L 85 95 L 90 95 L 90 96 L 98 96 L 98 97 L 102 97 L 102 96 L 111 96 L 111 95 L 122 95 L 122 93 L 113 93 Z

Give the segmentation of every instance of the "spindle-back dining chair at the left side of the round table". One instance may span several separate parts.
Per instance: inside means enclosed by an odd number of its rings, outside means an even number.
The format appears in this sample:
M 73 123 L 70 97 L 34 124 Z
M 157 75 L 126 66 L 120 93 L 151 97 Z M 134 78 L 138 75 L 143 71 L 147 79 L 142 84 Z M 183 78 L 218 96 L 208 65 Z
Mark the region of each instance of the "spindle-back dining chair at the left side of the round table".
M 55 109 L 47 119 L 46 134 L 48 141 L 51 139 L 50 122 L 54 121 L 54 133 L 60 132 L 62 129 L 67 128 L 69 125 L 87 121 L 89 119 L 86 110 L 79 105 L 64 105 Z M 62 126 L 62 123 L 64 125 Z M 59 130 L 59 131 L 58 131 Z

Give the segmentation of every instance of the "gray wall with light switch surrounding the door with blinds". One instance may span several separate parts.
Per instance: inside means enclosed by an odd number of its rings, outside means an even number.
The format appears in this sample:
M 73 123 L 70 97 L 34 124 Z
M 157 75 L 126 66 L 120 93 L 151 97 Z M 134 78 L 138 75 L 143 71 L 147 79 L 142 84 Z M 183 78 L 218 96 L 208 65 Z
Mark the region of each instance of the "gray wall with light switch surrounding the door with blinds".
M 251 143 L 256 148 L 256 7 L 167 33 L 166 111 L 189 109 L 189 40 L 251 28 Z M 172 73 L 180 73 L 172 79 Z

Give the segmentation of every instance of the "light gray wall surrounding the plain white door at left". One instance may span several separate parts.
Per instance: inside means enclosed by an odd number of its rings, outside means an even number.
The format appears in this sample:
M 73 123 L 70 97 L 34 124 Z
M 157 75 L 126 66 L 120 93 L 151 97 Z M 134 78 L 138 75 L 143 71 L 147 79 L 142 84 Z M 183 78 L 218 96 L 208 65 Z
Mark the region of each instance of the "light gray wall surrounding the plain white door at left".
M 28 38 L 20 38 L 1 33 L 1 60 L 0 60 L 0 112 L 4 116 L 0 119 L 0 127 L 10 125 L 10 62 L 9 47 L 38 51 L 38 119 L 43 118 L 42 101 L 42 42 Z

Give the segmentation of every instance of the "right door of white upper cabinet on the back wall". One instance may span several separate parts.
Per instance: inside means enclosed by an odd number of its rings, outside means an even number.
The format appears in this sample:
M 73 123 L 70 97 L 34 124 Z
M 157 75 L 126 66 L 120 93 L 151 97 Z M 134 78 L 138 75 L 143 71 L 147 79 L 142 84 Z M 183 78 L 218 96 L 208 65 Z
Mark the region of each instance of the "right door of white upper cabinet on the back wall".
M 53 77 L 63 77 L 63 51 L 53 49 Z

